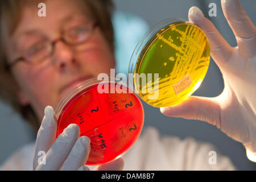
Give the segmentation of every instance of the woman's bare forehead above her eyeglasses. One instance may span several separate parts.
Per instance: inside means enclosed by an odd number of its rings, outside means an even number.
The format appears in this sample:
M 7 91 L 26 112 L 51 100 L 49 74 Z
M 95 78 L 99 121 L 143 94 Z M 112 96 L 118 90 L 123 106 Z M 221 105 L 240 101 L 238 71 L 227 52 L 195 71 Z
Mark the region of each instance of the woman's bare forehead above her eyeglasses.
M 46 17 L 38 16 L 38 3 L 23 5 L 20 21 L 13 38 L 27 32 L 43 31 L 49 32 L 52 29 L 60 28 L 71 21 L 76 15 L 83 16 L 90 20 L 92 15 L 85 3 L 79 0 L 51 0 L 44 1 L 46 4 Z

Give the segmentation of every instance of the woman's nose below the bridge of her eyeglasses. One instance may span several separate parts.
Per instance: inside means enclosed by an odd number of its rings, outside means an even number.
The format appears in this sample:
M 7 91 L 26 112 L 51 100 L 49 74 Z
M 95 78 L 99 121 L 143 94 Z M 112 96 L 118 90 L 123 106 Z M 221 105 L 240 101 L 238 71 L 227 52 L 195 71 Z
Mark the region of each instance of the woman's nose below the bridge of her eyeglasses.
M 72 48 L 63 41 L 57 41 L 55 43 L 55 50 L 52 59 L 56 68 L 61 71 L 76 63 Z

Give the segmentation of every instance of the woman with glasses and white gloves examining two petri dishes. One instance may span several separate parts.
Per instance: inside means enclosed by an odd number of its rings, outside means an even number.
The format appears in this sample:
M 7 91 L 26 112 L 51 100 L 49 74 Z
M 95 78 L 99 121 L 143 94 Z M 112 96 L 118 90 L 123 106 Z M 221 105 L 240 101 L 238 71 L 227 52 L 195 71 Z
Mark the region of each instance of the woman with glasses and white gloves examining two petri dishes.
M 145 130 L 123 159 L 97 167 L 84 166 L 90 151 L 89 138 L 79 137 L 79 127 L 72 124 L 55 140 L 53 114 L 72 86 L 99 73 L 109 74 L 110 68 L 115 67 L 110 2 L 45 1 L 46 17 L 38 16 L 38 3 L 1 1 L 1 97 L 35 127 L 42 121 L 36 144 L 18 151 L 2 169 L 234 169 L 225 156 L 218 155 L 216 165 L 209 163 L 209 151 L 214 150 L 210 144 L 200 144 L 193 139 L 159 138 L 154 129 Z M 196 7 L 189 10 L 189 21 L 202 27 L 208 36 L 211 55 L 224 75 L 224 92 L 216 98 L 190 97 L 179 106 L 161 111 L 174 117 L 212 123 L 255 152 L 255 57 L 252 59 L 255 27 L 238 2 L 222 1 L 222 7 L 238 38 L 237 48 L 230 47 Z M 238 17 L 231 9 L 243 16 Z M 243 18 L 243 22 L 234 24 L 232 14 L 237 21 Z M 237 70 L 241 65 L 243 72 L 246 70 L 243 76 Z M 238 81 L 233 81 L 234 78 Z M 45 164 L 39 162 L 39 151 L 46 151 Z

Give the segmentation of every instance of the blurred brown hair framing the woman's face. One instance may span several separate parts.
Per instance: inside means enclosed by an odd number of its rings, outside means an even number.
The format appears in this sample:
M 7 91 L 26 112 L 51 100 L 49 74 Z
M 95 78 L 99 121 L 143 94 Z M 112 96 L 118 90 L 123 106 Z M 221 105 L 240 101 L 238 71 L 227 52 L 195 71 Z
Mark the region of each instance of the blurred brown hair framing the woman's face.
M 51 0 L 53 1 L 53 0 Z M 111 21 L 113 3 L 111 0 L 80 0 L 89 8 L 90 14 L 98 22 L 103 35 L 114 51 L 113 26 Z M 7 69 L 5 55 L 5 43 L 3 42 L 3 31 L 13 34 L 20 20 L 22 7 L 28 3 L 36 3 L 36 0 L 1 0 L 0 1 L 0 100 L 13 107 L 32 128 L 39 129 L 39 121 L 31 105 L 20 105 L 17 94 L 17 85 L 11 72 Z M 42 2 L 42 1 L 40 1 Z

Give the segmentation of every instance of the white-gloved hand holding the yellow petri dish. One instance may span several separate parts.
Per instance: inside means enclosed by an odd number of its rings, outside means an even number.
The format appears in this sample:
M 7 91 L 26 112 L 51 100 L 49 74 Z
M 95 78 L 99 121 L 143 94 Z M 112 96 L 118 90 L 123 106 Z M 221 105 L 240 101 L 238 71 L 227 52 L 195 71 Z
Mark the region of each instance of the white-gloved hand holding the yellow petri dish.
M 197 7 L 189 9 L 188 18 L 207 35 L 210 55 L 224 78 L 223 92 L 212 98 L 191 96 L 160 111 L 216 125 L 256 156 L 256 28 L 238 0 L 221 1 L 221 6 L 237 47 L 231 47 Z

